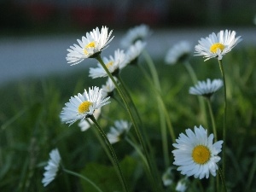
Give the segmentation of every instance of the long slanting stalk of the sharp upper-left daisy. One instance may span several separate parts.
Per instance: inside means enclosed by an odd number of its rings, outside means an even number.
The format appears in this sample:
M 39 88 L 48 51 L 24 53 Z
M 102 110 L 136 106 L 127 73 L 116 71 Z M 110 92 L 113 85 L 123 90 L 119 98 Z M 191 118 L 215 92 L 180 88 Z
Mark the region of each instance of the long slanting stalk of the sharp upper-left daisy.
M 108 67 L 106 67 L 106 65 L 104 64 L 104 62 L 102 61 L 102 57 L 101 55 L 96 55 L 96 60 L 100 62 L 100 64 L 102 65 L 102 67 L 104 68 L 104 70 L 106 71 L 106 73 L 108 74 L 108 77 L 113 81 L 113 84 L 115 85 L 116 87 L 116 90 L 118 90 L 119 92 L 119 96 L 121 97 L 121 99 L 123 100 L 123 102 L 125 103 L 125 108 L 127 110 L 127 112 L 129 113 L 129 116 L 131 118 L 131 122 L 132 124 L 134 125 L 134 129 L 137 133 L 137 137 L 139 139 L 139 142 L 140 144 L 142 145 L 143 147 L 143 151 L 146 155 L 146 158 L 148 160 L 148 165 L 150 166 L 150 171 L 151 171 L 151 174 L 153 176 L 153 169 L 152 169 L 152 164 L 151 164 L 151 160 L 149 158 L 149 154 L 148 154 L 148 150 L 146 148 L 146 145 L 145 143 L 143 142 L 143 137 L 142 137 L 142 134 L 141 132 L 139 131 L 139 128 L 138 128 L 138 125 L 137 125 L 137 122 L 133 116 L 133 114 L 131 113 L 131 108 L 129 107 L 128 105 L 128 102 L 126 101 L 126 98 L 125 98 L 125 95 L 123 93 L 123 91 L 119 88 L 119 84 L 117 84 L 117 82 L 115 81 L 115 79 L 113 79 L 113 75 L 108 71 Z M 154 181 L 154 186 L 155 188 L 160 188 L 159 186 L 160 184 L 157 183 L 156 181 Z M 161 189 L 161 188 L 160 188 Z M 157 191 L 157 189 L 155 189 Z

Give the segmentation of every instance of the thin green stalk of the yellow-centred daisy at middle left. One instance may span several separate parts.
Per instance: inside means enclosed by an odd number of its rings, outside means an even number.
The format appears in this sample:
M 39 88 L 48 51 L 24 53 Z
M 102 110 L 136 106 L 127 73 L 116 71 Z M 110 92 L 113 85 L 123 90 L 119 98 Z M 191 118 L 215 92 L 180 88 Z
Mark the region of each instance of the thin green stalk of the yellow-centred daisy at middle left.
M 116 154 L 115 154 L 115 152 L 114 152 L 114 150 L 113 150 L 113 147 L 112 147 L 111 143 L 110 143 L 109 140 L 108 140 L 108 137 L 107 137 L 106 133 L 102 130 L 102 127 L 98 124 L 98 122 L 96 121 L 96 119 L 95 119 L 95 117 L 94 117 L 93 115 L 91 115 L 89 118 L 90 118 L 90 119 L 92 120 L 92 122 L 96 125 L 96 127 L 98 128 L 98 131 L 102 134 L 102 137 L 104 138 L 104 140 L 105 140 L 105 142 L 106 142 L 106 144 L 107 144 L 107 146 L 108 146 L 108 150 L 109 150 L 109 152 L 112 154 L 112 157 L 113 157 L 113 161 L 114 161 L 114 163 L 115 163 L 115 166 L 116 166 L 117 169 L 118 169 L 119 177 L 120 177 L 121 182 L 122 182 L 122 184 L 123 184 L 123 188 L 125 189 L 126 192 L 128 192 L 129 190 L 128 190 L 128 188 L 127 188 L 127 185 L 126 185 L 126 182 L 125 182 L 125 177 L 124 177 L 123 172 L 122 172 L 122 170 L 121 170 L 121 167 L 120 167 L 120 165 L 119 165 L 119 160 L 118 160 L 118 158 L 117 158 L 117 156 L 116 156 Z

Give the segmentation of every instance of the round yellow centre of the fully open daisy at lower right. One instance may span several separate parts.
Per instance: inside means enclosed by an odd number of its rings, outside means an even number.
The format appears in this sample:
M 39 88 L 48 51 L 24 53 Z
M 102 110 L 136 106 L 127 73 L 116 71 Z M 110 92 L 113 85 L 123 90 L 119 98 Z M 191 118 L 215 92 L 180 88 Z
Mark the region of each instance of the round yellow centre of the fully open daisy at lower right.
M 211 152 L 209 148 L 204 145 L 198 145 L 193 149 L 192 158 L 197 164 L 205 164 L 211 158 Z

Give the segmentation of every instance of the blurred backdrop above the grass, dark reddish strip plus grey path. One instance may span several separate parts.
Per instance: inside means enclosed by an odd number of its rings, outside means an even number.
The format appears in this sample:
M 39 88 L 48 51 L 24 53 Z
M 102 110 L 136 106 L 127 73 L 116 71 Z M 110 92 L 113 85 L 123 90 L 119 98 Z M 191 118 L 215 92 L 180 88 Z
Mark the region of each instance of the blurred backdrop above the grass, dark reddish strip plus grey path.
M 26 75 L 79 70 L 67 65 L 67 48 L 96 26 L 113 29 L 106 55 L 119 48 L 129 28 L 142 23 L 154 32 L 149 53 L 165 55 L 179 40 L 196 44 L 225 28 L 255 43 L 254 15 L 255 0 L 1 0 L 0 85 Z

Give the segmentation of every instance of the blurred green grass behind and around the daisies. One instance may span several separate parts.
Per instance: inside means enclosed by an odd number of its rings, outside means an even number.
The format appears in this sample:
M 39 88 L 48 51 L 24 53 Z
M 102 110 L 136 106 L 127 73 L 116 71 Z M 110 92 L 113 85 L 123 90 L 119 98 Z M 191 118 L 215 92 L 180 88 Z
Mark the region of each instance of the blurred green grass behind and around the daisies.
M 255 47 L 240 47 L 224 56 L 227 83 L 226 120 L 226 184 L 233 192 L 256 191 L 256 54 Z M 166 66 L 157 59 L 155 67 L 160 77 L 163 101 L 176 135 L 186 128 L 201 125 L 201 112 L 196 96 L 189 95 L 192 81 L 183 65 Z M 220 79 L 217 61 L 202 61 L 192 58 L 191 64 L 199 80 Z M 140 63 L 146 67 L 144 61 Z M 83 63 L 86 65 L 86 62 Z M 70 96 L 88 89 L 102 86 L 105 79 L 90 79 L 87 72 L 69 76 L 49 76 L 43 79 L 25 79 L 5 84 L 0 89 L 0 191 L 94 191 L 88 183 L 77 177 L 60 172 L 47 188 L 41 183 L 49 151 L 59 148 L 62 163 L 69 170 L 84 174 L 104 186 L 106 191 L 120 190 L 121 185 L 113 172 L 111 162 L 98 142 L 96 127 L 88 131 L 79 130 L 77 123 L 71 127 L 61 124 L 59 114 Z M 85 75 L 84 75 L 85 74 Z M 160 173 L 166 171 L 160 135 L 160 119 L 157 102 L 150 84 L 136 67 L 127 67 L 121 76 L 131 90 L 131 96 L 141 114 L 144 127 L 154 149 L 154 157 Z M 75 78 L 74 78 L 75 77 Z M 136 84 L 134 83 L 136 82 Z M 221 90 L 223 91 L 223 90 Z M 223 94 L 219 91 L 212 98 L 213 114 L 218 133 L 223 124 Z M 125 109 L 112 102 L 102 108 L 99 123 L 103 129 L 115 119 L 127 119 Z M 210 116 L 207 121 L 211 122 Z M 210 124 L 209 124 L 210 125 Z M 208 125 L 203 125 L 210 129 Z M 221 138 L 218 135 L 218 138 Z M 172 162 L 172 139 L 168 135 L 169 156 Z M 125 178 L 131 191 L 150 191 L 146 173 L 137 153 L 125 141 L 114 144 Z M 172 164 L 172 163 L 171 163 Z M 172 166 L 172 165 L 169 165 Z M 97 172 L 98 171 L 98 172 Z M 100 172 L 101 171 L 101 172 Z M 179 177 L 178 172 L 174 174 Z M 196 191 L 198 180 L 189 178 L 191 188 Z M 109 184 L 110 183 L 110 184 Z M 208 180 L 201 180 L 207 186 Z M 109 186 L 113 186 L 110 188 Z M 211 191 L 206 189 L 204 191 Z

